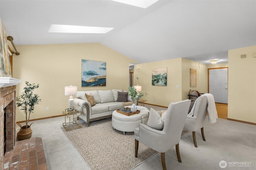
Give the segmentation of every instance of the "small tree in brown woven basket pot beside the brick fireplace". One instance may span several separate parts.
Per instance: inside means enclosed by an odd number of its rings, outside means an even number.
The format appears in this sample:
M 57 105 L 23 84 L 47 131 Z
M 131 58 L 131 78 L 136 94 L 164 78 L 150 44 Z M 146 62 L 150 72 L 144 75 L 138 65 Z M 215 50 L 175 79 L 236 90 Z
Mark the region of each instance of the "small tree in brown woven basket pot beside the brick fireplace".
M 24 92 L 18 97 L 16 97 L 16 104 L 23 110 L 26 115 L 26 125 L 22 126 L 20 123 L 20 131 L 17 133 L 18 140 L 29 139 L 32 136 L 32 130 L 30 125 L 28 125 L 30 114 L 33 113 L 36 104 L 41 102 L 38 94 L 33 94 L 34 89 L 38 88 L 39 84 L 30 84 L 26 82 L 26 86 L 23 88 Z M 33 122 L 34 123 L 34 122 Z

